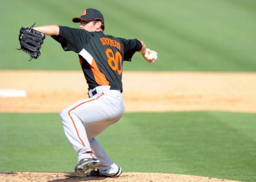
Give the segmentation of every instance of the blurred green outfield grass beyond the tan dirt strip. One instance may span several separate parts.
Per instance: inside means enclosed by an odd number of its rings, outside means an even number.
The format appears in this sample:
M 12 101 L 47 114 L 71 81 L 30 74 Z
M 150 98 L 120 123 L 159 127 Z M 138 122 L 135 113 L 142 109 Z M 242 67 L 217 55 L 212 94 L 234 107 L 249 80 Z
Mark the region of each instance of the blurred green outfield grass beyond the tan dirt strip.
M 124 70 L 256 71 L 255 0 L 5 1 L 0 7 L 0 69 L 80 69 L 77 55 L 64 52 L 50 37 L 37 60 L 29 62 L 15 48 L 21 26 L 36 22 L 78 28 L 71 20 L 88 7 L 104 14 L 107 34 L 144 40 L 159 53 L 154 65 L 135 55 Z

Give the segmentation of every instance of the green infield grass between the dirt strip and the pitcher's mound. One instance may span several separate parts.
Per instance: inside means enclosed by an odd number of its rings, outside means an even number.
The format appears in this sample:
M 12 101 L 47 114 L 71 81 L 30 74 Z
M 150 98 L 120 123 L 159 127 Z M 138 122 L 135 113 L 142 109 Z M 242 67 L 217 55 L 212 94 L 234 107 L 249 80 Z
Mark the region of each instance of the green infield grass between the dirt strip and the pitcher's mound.
M 126 113 L 97 138 L 124 172 L 254 182 L 256 114 Z M 0 115 L 0 171 L 73 172 L 58 114 Z

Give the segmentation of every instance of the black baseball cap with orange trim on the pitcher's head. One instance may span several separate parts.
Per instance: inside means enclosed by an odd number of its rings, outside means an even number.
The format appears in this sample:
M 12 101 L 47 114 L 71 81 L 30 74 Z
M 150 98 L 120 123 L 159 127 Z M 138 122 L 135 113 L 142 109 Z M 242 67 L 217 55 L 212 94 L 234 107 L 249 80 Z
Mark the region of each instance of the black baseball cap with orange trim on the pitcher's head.
M 85 9 L 82 12 L 81 17 L 75 17 L 72 19 L 72 21 L 75 23 L 79 23 L 81 20 L 84 20 L 84 21 L 100 20 L 102 23 L 104 23 L 104 18 L 101 12 L 93 8 Z

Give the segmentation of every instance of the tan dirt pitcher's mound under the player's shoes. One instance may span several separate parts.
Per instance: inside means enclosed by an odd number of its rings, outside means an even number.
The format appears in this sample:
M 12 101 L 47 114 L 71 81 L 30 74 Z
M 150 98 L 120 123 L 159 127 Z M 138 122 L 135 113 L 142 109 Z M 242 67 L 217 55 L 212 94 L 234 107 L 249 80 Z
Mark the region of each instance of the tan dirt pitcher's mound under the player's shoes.
M 1 182 L 236 182 L 167 173 L 122 173 L 120 177 L 90 177 L 76 173 L 0 172 Z

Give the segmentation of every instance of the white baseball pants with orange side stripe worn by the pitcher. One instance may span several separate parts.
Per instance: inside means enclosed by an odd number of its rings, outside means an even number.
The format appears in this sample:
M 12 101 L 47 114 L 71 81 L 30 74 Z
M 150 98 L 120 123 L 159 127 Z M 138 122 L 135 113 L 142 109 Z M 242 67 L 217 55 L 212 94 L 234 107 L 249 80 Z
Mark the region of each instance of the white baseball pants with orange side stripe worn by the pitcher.
M 92 95 L 90 90 L 89 99 L 79 100 L 63 109 L 60 118 L 65 135 L 77 152 L 77 161 L 96 157 L 101 161 L 99 172 L 114 175 L 118 166 L 94 137 L 116 123 L 123 116 L 125 106 L 118 90 L 110 90 L 110 86 L 98 86 L 96 91 Z

